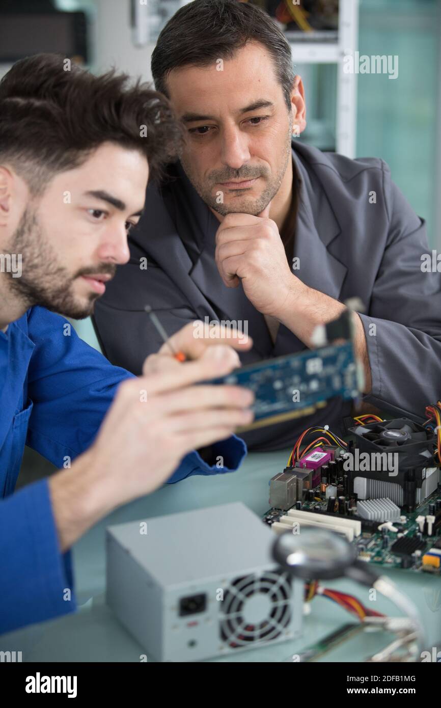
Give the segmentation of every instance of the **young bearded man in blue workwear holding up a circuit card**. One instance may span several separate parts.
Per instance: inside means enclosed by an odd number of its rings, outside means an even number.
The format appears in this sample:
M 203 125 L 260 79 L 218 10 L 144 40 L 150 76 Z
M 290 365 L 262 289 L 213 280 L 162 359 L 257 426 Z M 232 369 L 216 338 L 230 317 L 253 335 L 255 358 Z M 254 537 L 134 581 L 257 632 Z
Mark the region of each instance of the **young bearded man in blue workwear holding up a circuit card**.
M 69 548 L 98 519 L 244 456 L 229 436 L 252 420 L 251 392 L 195 385 L 230 372 L 233 349 L 187 328 L 173 343 L 197 360 L 164 348 L 135 379 L 54 314 L 93 312 L 180 135 L 164 96 L 64 71 L 56 55 L 23 59 L 0 82 L 0 632 L 74 610 Z M 208 462 L 191 452 L 212 443 Z M 14 493 L 25 444 L 60 471 Z M 210 464 L 219 455 L 223 469 Z

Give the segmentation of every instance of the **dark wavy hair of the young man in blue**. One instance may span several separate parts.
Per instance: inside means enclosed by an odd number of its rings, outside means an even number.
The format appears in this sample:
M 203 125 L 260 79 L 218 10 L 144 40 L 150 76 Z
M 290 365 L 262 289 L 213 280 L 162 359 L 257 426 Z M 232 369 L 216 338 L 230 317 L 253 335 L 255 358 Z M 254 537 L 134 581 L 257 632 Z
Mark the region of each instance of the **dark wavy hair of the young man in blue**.
M 178 156 L 183 130 L 168 99 L 114 70 L 95 76 L 64 57 L 38 54 L 0 81 L 0 162 L 11 164 L 31 193 L 74 169 L 103 142 L 138 150 L 159 180 Z

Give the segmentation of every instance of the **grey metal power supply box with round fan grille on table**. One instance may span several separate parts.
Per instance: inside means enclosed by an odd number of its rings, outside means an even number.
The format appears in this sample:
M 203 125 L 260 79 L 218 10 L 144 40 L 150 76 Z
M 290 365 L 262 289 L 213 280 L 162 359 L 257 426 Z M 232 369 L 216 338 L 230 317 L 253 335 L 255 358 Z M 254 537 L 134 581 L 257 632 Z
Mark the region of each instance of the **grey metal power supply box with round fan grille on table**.
M 110 526 L 107 602 L 158 661 L 202 661 L 293 639 L 304 587 L 242 503 Z

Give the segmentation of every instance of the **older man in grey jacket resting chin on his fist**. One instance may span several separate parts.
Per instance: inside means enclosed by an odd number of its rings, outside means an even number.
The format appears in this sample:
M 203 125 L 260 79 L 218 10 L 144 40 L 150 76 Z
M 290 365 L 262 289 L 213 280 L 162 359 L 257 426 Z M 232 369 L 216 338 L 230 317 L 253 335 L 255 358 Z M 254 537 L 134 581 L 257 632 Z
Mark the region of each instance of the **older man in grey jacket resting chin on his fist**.
M 246 323 L 248 363 L 311 346 L 314 327 L 357 296 L 365 401 L 423 416 L 441 393 L 441 278 L 422 268 L 423 219 L 382 160 L 296 139 L 304 90 L 277 25 L 256 6 L 195 0 L 161 33 L 152 72 L 185 125 L 185 146 L 147 190 L 130 263 L 96 306 L 108 358 L 139 373 L 159 349 L 147 303 L 170 334 L 194 319 Z M 272 450 L 319 423 L 341 433 L 349 413 L 334 399 L 244 438 Z

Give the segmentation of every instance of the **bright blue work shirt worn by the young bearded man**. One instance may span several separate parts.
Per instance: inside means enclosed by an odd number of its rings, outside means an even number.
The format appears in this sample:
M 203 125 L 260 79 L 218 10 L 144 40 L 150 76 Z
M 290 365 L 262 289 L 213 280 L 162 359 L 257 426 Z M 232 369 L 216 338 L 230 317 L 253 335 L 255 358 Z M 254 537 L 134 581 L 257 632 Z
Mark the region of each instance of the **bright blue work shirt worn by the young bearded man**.
M 0 331 L 0 632 L 76 609 L 71 556 L 59 551 L 47 480 L 14 493 L 25 445 L 59 468 L 69 466 L 68 458 L 91 445 L 118 384 L 129 377 L 42 307 Z M 231 472 L 246 447 L 233 436 L 213 452 L 224 467 L 191 452 L 168 482 Z

